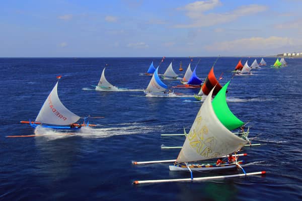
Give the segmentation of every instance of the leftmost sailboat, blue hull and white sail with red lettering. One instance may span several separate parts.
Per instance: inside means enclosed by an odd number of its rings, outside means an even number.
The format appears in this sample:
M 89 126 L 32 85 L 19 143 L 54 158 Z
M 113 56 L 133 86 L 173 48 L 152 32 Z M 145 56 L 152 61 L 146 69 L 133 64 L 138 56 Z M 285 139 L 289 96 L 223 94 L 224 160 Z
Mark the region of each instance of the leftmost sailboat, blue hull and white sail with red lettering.
M 60 78 L 60 76 L 57 78 Z M 36 120 L 34 122 L 30 120 L 29 122 L 21 121 L 21 123 L 28 123 L 33 128 L 41 126 L 44 128 L 64 130 L 76 130 L 80 129 L 82 126 L 90 126 L 89 122 L 87 121 L 88 117 L 84 118 L 83 124 L 75 124 L 77 121 L 79 121 L 80 117 L 70 112 L 61 103 L 57 92 L 58 82 L 59 81 L 57 81 L 46 98 Z

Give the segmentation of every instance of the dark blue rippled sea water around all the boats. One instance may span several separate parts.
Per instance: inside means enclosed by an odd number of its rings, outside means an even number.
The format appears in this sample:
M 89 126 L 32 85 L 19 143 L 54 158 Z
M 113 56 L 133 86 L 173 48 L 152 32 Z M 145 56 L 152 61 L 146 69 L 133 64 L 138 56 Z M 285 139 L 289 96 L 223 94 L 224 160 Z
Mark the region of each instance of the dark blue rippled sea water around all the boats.
M 302 59 L 286 59 L 287 67 L 269 64 L 251 76 L 234 76 L 240 58 L 219 58 L 216 77 L 231 80 L 231 111 L 251 126 L 250 138 L 259 147 L 244 148 L 247 172 L 267 171 L 265 176 L 204 182 L 133 185 L 134 180 L 188 178 L 188 172 L 170 172 L 168 164 L 134 166 L 131 161 L 175 159 L 183 137 L 163 133 L 189 131 L 201 106 L 193 99 L 144 97 L 140 91 L 95 91 L 103 67 L 107 80 L 118 87 L 146 88 L 141 76 L 152 60 L 161 58 L 0 58 L 1 139 L 0 200 L 301 200 L 302 199 Z M 257 58 L 258 62 L 261 58 Z M 184 73 L 189 58 L 166 58 L 159 72 L 173 60 Z M 216 58 L 201 58 L 196 73 L 204 80 Z M 246 58 L 243 58 L 245 62 Z M 249 59 L 251 63 L 254 58 Z M 179 72 L 179 63 L 183 72 Z M 197 64 L 194 58 L 192 69 Z M 37 130 L 43 137 L 6 138 L 35 131 L 21 120 L 34 120 L 47 95 L 58 85 L 61 102 L 70 111 L 97 124 L 75 136 Z M 178 81 L 163 80 L 169 88 Z M 174 89 L 194 94 L 198 89 Z M 231 171 L 236 173 L 241 171 Z M 230 173 L 230 171 L 229 171 Z M 196 173 L 194 176 L 223 172 Z

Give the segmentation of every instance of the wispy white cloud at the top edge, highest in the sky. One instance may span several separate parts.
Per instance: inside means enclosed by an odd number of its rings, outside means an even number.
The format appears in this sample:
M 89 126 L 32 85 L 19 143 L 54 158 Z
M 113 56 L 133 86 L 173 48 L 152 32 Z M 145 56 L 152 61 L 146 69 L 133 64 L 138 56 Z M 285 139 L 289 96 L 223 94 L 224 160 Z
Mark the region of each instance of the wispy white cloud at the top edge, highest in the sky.
M 188 7 L 185 6 L 186 16 L 192 19 L 192 23 L 188 24 L 178 24 L 175 28 L 194 28 L 194 27 L 207 27 L 217 24 L 223 24 L 232 22 L 240 17 L 254 15 L 267 10 L 267 7 L 261 5 L 247 5 L 244 7 L 239 7 L 236 10 L 228 13 L 209 13 L 204 14 L 203 11 L 213 9 L 215 6 L 220 5 L 219 1 L 211 1 L 212 4 L 204 7 Z M 195 4 L 195 3 L 192 3 Z M 190 5 L 190 4 L 189 4 Z M 198 9 L 199 8 L 199 9 Z

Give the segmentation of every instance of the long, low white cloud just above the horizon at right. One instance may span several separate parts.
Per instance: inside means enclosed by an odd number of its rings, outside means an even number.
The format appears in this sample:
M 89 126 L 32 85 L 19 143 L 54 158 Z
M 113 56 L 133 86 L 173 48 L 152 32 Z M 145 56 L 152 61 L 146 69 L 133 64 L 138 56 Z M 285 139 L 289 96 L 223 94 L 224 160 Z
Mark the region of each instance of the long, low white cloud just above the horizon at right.
M 297 41 L 288 37 L 271 36 L 268 38 L 252 37 L 243 38 L 234 41 L 217 42 L 211 45 L 205 46 L 208 51 L 230 51 L 238 52 L 241 49 L 245 51 L 249 50 L 265 50 L 281 48 L 284 46 L 292 46 L 296 43 L 301 44 L 301 40 Z

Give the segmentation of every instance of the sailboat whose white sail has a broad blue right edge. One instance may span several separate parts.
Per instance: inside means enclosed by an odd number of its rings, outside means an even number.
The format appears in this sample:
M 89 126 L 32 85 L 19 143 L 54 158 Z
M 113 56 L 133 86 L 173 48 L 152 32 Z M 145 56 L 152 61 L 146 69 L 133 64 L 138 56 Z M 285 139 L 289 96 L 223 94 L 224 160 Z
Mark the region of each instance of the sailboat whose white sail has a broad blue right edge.
M 175 96 L 173 92 L 167 92 L 168 86 L 161 80 L 158 74 L 159 67 L 153 73 L 153 76 L 143 92 L 146 96 Z

